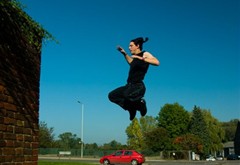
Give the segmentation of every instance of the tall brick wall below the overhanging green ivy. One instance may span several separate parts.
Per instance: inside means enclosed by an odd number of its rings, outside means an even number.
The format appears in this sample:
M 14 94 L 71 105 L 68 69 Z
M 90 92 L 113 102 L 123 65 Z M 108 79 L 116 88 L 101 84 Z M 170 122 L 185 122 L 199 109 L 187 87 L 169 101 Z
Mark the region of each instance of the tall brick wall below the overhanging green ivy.
M 0 165 L 37 165 L 41 53 L 7 10 L 1 6 Z

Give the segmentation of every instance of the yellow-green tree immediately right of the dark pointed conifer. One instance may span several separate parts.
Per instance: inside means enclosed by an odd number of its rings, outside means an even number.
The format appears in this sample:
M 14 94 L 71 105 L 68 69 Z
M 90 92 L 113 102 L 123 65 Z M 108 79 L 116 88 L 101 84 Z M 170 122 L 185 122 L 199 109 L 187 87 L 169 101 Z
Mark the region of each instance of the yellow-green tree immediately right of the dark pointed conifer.
M 222 141 L 224 139 L 224 130 L 221 127 L 221 123 L 212 116 L 209 110 L 202 110 L 204 119 L 207 124 L 207 129 L 209 132 L 210 144 L 209 149 L 210 153 L 215 151 L 222 151 L 223 145 Z

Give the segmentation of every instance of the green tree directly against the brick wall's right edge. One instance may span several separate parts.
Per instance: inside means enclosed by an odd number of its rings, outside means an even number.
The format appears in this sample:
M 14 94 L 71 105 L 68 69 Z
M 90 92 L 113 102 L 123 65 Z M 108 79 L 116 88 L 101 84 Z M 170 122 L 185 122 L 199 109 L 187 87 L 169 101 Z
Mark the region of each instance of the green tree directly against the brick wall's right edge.
M 51 148 L 54 145 L 53 127 L 48 127 L 47 123 L 40 121 L 39 123 L 39 147 Z

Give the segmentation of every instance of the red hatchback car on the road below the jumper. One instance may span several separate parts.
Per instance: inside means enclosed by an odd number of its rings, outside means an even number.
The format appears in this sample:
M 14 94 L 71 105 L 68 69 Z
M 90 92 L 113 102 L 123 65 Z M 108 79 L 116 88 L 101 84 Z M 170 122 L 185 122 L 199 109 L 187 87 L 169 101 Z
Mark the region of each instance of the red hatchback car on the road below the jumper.
M 104 165 L 109 164 L 132 164 L 141 165 L 145 162 L 145 157 L 135 150 L 119 150 L 111 155 L 101 157 L 100 163 Z

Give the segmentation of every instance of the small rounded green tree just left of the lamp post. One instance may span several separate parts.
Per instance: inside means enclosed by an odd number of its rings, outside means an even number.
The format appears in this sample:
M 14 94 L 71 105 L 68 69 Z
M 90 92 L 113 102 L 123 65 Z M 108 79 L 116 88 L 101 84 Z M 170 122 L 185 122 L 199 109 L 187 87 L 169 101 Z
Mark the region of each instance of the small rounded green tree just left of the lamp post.
M 65 150 L 79 149 L 82 143 L 81 139 L 78 138 L 76 134 L 72 134 L 71 132 L 62 133 L 58 137 L 60 147 Z

